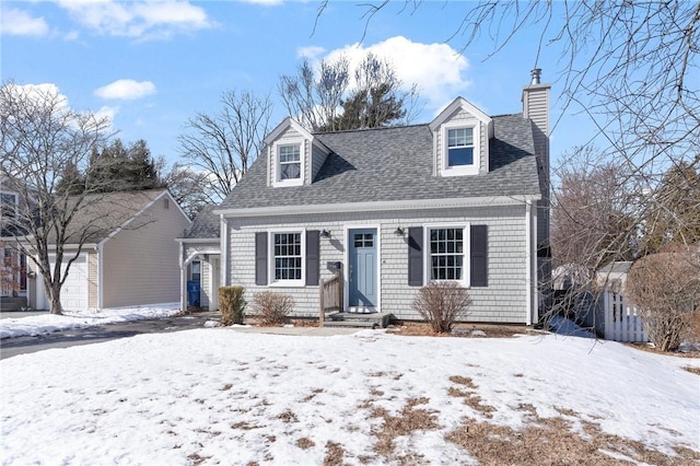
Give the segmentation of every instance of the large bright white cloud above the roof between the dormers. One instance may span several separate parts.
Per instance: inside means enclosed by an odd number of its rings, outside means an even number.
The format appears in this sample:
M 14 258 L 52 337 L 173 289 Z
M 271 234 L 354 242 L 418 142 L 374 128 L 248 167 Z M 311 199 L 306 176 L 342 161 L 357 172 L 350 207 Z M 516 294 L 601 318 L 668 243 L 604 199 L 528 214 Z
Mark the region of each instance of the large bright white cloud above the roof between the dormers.
M 421 97 L 427 101 L 427 107 L 431 110 L 444 107 L 470 84 L 464 75 L 469 62 L 447 44 L 421 44 L 396 36 L 368 47 L 360 44 L 348 45 L 330 51 L 325 58 L 335 60 L 345 55 L 352 69 L 370 51 L 393 65 L 407 90 L 417 84 Z

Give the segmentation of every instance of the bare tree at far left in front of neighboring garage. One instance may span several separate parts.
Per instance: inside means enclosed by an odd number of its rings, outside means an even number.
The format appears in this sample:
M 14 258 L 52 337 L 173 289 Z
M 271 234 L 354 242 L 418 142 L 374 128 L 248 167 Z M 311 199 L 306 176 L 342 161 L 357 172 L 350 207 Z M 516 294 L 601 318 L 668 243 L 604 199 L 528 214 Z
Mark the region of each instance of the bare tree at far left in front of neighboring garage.
M 81 210 L 95 199 L 90 190 L 71 195 L 70 186 L 62 193 L 57 187 L 65 167 L 88 166 L 107 129 L 106 119 L 72 110 L 55 91 L 12 82 L 0 88 L 0 175 L 3 190 L 18 195 L 14 211 L 2 215 L 3 241 L 5 247 L 25 254 L 44 276 L 54 314 L 62 312 L 61 287 L 97 228 L 74 228 Z M 67 244 L 78 249 L 68 253 Z

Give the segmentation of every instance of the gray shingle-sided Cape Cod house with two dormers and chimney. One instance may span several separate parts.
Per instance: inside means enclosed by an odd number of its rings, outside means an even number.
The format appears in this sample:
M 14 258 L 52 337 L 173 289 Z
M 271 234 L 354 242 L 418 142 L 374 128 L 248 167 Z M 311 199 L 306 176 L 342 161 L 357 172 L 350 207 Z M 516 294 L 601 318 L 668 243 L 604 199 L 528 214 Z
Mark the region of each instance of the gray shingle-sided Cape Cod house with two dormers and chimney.
M 183 283 L 194 258 L 214 258 L 210 276 L 248 301 L 283 292 L 294 315 L 315 317 L 319 280 L 339 270 L 345 311 L 421 319 L 420 288 L 455 280 L 469 321 L 537 322 L 550 273 L 550 85 L 538 71 L 523 114 L 459 97 L 428 125 L 311 133 L 285 118 L 218 219 L 202 219 L 207 233 L 182 238 Z

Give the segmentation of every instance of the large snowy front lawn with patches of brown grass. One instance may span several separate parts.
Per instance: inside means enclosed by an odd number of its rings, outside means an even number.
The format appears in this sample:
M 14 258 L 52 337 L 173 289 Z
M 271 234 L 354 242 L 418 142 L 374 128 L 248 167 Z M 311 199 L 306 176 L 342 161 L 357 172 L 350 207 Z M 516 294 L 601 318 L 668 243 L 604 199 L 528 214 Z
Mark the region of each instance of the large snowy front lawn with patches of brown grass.
M 141 335 L 0 361 L 0 457 L 688 464 L 700 377 L 687 365 L 700 361 L 555 335 Z

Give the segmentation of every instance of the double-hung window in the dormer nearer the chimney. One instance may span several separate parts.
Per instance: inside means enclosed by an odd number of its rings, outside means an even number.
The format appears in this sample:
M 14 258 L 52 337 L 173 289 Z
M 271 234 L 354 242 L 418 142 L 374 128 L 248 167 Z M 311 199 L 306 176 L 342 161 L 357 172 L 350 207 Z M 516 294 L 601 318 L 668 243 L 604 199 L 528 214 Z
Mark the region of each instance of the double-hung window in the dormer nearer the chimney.
M 479 124 L 453 123 L 442 127 L 443 176 L 479 173 Z

